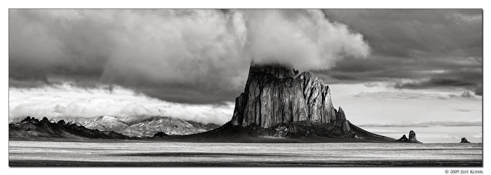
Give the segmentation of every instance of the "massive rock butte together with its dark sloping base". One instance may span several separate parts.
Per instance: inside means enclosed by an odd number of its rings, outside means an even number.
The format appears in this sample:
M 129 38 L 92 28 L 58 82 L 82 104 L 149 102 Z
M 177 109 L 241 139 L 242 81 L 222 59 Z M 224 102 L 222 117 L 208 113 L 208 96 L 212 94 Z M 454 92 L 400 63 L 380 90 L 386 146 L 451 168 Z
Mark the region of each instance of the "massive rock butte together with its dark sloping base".
M 255 136 L 395 140 L 352 125 L 343 109 L 332 105 L 329 86 L 284 64 L 251 62 L 244 93 L 235 99 L 232 120 L 225 125 L 246 127 L 234 129 L 249 135 L 255 130 Z

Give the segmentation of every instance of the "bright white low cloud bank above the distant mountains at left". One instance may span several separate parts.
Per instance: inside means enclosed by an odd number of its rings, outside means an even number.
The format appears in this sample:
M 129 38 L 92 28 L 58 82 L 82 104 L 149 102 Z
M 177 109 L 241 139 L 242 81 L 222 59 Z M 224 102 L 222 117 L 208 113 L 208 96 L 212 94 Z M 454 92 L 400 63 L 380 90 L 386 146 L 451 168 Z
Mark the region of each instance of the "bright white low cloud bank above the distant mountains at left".
M 33 91 L 10 89 L 9 117 L 84 117 L 150 115 L 168 116 L 202 123 L 224 124 L 230 120 L 233 107 L 228 105 L 180 104 L 135 96 L 125 89 L 113 90 L 107 94 L 103 90 L 92 93 L 73 89 L 48 88 Z M 15 97 L 14 97 L 15 96 Z

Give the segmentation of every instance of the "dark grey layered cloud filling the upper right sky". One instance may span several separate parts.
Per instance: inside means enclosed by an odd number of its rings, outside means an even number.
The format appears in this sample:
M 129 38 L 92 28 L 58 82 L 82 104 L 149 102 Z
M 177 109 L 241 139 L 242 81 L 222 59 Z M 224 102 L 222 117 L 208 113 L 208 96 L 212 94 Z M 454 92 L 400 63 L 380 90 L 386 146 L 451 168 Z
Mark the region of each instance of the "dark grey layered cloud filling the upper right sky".
M 367 59 L 341 59 L 331 83 L 399 82 L 405 89 L 473 89 L 482 96 L 482 10 L 324 10 L 363 34 Z M 408 81 L 409 80 L 409 81 Z

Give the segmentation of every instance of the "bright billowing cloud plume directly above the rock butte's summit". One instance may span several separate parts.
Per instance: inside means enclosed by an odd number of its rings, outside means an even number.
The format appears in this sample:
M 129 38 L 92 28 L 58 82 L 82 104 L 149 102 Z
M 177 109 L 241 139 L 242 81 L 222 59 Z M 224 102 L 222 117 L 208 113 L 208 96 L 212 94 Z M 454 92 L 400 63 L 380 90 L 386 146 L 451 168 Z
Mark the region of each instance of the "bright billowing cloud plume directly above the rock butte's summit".
M 258 61 L 286 60 L 298 69 L 327 69 L 345 56 L 367 57 L 363 35 L 330 22 L 320 10 L 246 10 L 248 43 Z

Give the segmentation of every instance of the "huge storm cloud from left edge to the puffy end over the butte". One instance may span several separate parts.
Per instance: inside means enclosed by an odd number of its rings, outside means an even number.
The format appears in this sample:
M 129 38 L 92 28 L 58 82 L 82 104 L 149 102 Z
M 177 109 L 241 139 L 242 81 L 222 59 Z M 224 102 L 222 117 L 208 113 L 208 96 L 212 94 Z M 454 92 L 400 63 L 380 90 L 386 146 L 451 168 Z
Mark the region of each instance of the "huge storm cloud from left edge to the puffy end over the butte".
M 251 59 L 327 70 L 370 55 L 321 10 L 9 10 L 9 87 L 113 85 L 178 103 L 233 101 Z

